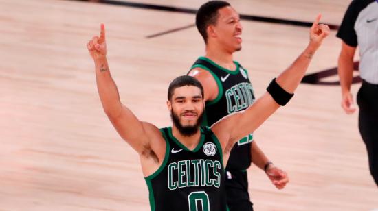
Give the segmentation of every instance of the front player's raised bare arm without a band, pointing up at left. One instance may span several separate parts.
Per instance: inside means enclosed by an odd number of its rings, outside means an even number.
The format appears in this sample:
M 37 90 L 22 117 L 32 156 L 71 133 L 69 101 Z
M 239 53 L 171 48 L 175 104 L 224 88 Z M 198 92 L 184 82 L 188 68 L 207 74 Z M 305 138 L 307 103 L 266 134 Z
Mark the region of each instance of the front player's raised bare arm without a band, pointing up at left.
M 87 43 L 87 48 L 96 68 L 98 95 L 109 120 L 120 136 L 138 153 L 151 149 L 149 140 L 161 136 L 159 129 L 138 120 L 129 108 L 122 105 L 118 88 L 109 71 L 104 24 L 101 24 L 100 37 L 93 36 Z

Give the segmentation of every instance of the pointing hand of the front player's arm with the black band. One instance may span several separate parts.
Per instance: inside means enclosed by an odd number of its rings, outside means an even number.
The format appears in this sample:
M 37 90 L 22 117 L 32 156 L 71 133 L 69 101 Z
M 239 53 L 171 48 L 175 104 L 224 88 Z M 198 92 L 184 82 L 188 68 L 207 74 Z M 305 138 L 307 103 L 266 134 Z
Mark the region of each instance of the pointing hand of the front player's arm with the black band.
M 315 49 L 318 49 L 322 45 L 322 41 L 329 35 L 329 26 L 325 24 L 319 24 L 321 14 L 318 14 L 313 25 L 310 29 L 310 45 Z

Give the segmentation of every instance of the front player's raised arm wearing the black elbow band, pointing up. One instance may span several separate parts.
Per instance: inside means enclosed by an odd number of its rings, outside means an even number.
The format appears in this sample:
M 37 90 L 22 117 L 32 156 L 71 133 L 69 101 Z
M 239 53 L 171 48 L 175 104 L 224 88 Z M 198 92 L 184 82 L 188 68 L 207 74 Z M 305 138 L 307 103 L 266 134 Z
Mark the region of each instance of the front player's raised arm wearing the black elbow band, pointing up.
M 327 25 L 318 24 L 320 15 L 310 29 L 310 42 L 298 58 L 277 78 L 277 84 L 286 92 L 293 93 L 300 84 L 304 73 L 311 62 L 315 51 L 322 44 L 322 40 L 329 34 Z M 212 126 L 213 132 L 219 138 L 225 152 L 229 151 L 236 141 L 254 132 L 280 105 L 269 92 L 256 100 L 249 108 L 225 116 Z

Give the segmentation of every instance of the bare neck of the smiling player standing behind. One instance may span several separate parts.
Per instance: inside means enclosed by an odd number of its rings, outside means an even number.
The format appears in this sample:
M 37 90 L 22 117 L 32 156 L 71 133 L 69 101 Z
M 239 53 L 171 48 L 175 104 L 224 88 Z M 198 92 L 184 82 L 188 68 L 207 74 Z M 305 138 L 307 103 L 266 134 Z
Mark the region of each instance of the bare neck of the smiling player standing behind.
M 225 69 L 236 69 L 233 54 L 219 45 L 206 45 L 205 57 L 209 58 L 210 60 L 212 60 L 216 64 L 219 64 L 219 66 L 222 66 Z

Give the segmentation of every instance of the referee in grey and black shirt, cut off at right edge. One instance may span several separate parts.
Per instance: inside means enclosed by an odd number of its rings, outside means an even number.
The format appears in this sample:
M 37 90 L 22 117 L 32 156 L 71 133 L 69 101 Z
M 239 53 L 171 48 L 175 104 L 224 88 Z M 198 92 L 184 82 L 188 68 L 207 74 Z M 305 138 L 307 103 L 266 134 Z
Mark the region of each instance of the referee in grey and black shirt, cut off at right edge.
M 362 86 L 357 94 L 358 125 L 368 151 L 370 173 L 378 185 L 378 0 L 353 0 L 337 37 L 342 39 L 338 71 L 346 114 L 355 112 L 351 83 L 353 57 L 359 46 Z

